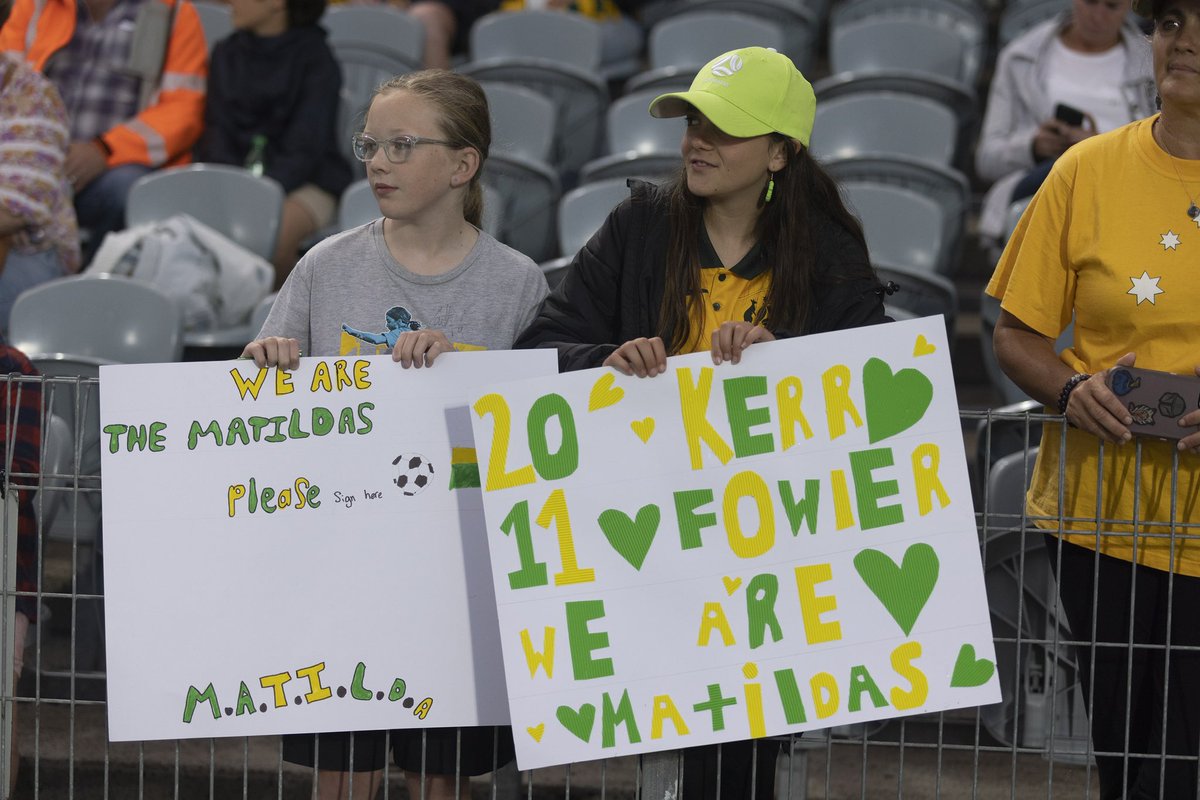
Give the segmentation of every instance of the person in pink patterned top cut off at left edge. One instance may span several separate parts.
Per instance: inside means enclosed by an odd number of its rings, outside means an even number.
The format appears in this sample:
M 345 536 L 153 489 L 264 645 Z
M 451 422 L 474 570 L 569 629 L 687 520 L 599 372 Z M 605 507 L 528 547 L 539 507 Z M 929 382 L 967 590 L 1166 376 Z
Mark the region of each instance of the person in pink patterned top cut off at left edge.
M 0 0 L 0 25 L 12 0 Z M 62 173 L 66 110 L 50 83 L 0 53 L 0 335 L 25 289 L 79 269 L 79 231 Z

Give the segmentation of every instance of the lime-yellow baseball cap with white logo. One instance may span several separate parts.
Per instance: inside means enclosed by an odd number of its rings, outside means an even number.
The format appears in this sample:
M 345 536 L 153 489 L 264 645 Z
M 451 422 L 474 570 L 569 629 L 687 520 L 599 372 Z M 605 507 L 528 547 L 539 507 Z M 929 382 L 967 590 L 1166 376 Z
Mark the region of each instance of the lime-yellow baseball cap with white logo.
M 786 55 L 743 47 L 706 64 L 688 91 L 655 97 L 650 115 L 683 116 L 691 107 L 730 136 L 782 133 L 808 146 L 817 98 Z

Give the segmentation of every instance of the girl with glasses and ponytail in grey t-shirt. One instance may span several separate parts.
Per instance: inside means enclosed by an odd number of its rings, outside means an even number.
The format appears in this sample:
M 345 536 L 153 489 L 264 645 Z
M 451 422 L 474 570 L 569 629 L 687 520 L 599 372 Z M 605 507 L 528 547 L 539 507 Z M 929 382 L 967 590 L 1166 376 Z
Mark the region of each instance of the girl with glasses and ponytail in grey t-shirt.
M 490 143 L 487 100 L 470 78 L 431 70 L 383 84 L 354 140 L 382 218 L 305 254 L 242 355 L 294 369 L 301 353 L 390 351 L 420 368 L 455 349 L 510 348 L 547 287 L 532 260 L 479 229 Z M 322 800 L 347 796 L 352 776 L 355 798 L 374 798 L 386 742 L 384 732 L 284 736 L 283 756 L 317 765 Z M 398 730 L 390 742 L 409 796 L 428 800 L 512 758 L 508 728 Z

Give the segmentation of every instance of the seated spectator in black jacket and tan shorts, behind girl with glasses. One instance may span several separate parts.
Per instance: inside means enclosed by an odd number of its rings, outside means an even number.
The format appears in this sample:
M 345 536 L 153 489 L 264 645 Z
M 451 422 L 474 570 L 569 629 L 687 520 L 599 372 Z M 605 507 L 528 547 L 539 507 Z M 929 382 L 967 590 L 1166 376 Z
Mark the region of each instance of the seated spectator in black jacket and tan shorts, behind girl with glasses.
M 287 194 L 275 288 L 300 242 L 334 219 L 350 182 L 337 142 L 342 72 L 317 23 L 325 0 L 230 0 L 236 31 L 212 49 L 197 161 L 245 166 Z

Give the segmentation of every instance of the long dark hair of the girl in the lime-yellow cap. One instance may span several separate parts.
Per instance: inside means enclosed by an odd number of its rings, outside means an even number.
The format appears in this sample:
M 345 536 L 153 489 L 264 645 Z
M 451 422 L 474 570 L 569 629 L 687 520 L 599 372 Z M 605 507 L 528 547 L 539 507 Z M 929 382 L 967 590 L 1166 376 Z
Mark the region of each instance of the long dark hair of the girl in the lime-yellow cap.
M 767 186 L 760 196 L 758 241 L 770 269 L 770 289 L 764 302 L 762 325 L 770 331 L 800 333 L 808 323 L 816 267 L 810 218 L 823 211 L 834 224 L 845 228 L 866 249 L 863 227 L 846 210 L 838 185 L 809 155 L 808 148 L 770 134 L 784 145 L 786 163 L 774 175 L 775 190 L 766 201 Z M 671 239 L 667 245 L 666 285 L 659 309 L 658 335 L 667 353 L 686 348 L 691 320 L 700 308 L 700 225 L 704 200 L 688 191 L 685 170 L 666 190 L 670 197 Z

